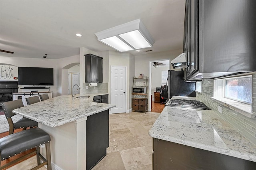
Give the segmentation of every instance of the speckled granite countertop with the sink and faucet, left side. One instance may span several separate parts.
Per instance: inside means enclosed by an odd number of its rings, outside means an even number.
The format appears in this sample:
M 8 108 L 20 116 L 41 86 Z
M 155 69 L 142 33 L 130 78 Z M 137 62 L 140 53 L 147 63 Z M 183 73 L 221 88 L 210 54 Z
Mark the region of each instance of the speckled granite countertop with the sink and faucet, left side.
M 73 99 L 72 95 L 62 95 L 14 109 L 13 113 L 49 127 L 57 127 L 116 107 L 106 103 L 93 102 L 93 96 L 104 94 L 90 94 L 87 99 Z

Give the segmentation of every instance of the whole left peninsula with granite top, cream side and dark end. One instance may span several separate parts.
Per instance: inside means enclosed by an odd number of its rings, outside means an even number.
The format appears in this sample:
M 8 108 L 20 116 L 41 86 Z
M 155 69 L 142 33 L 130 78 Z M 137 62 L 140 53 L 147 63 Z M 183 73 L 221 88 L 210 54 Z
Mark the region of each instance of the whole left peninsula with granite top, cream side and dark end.
M 94 165 L 90 161 L 96 152 L 106 154 L 109 144 L 108 110 L 115 106 L 94 103 L 93 97 L 94 95 L 88 98 L 73 98 L 72 95 L 63 95 L 13 111 L 37 121 L 38 126 L 50 134 L 53 169 L 89 169 Z M 106 142 L 102 146 L 103 149 L 95 151 L 92 156 L 86 155 L 88 150 L 93 148 L 88 146 L 89 143 L 94 143 L 92 140 Z

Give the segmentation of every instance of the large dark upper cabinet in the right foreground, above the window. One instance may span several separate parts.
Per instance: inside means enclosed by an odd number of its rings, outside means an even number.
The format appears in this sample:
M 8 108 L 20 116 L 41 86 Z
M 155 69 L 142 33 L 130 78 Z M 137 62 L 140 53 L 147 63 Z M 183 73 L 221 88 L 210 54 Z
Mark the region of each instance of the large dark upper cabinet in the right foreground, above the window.
M 187 78 L 256 71 L 256 1 L 187 0 Z

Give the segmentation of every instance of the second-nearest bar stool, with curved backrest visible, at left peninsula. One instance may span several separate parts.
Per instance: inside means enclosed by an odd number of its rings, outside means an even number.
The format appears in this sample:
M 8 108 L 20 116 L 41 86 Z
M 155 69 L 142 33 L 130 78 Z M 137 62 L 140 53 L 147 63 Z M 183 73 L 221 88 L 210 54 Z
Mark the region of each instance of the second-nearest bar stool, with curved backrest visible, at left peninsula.
M 4 110 L 4 115 L 9 124 L 9 134 L 12 134 L 14 129 L 17 129 L 17 128 L 23 128 L 23 130 L 26 130 L 27 127 L 30 127 L 30 128 L 38 127 L 38 122 L 32 121 L 31 119 L 28 119 L 25 117 L 18 120 L 16 123 L 13 123 L 12 116 L 16 114 L 12 113 L 12 111 L 14 109 L 23 107 L 22 99 L 4 102 L 4 103 L 1 103 L 1 105 L 2 105 L 2 109 Z

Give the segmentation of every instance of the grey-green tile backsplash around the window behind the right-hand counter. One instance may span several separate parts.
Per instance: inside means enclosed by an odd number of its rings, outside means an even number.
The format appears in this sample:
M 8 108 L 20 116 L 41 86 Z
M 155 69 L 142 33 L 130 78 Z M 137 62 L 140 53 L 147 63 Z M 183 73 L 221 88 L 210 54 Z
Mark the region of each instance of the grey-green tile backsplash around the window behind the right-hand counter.
M 252 77 L 252 112 L 256 113 L 256 73 L 253 73 Z M 213 97 L 213 91 L 213 80 L 203 80 L 202 93 L 197 92 L 196 98 L 202 101 L 210 109 L 216 111 L 222 119 L 236 128 L 240 134 L 256 144 L 256 119 L 245 117 L 244 115 L 213 101 L 210 98 Z M 218 112 L 218 105 L 222 107 L 222 113 Z

